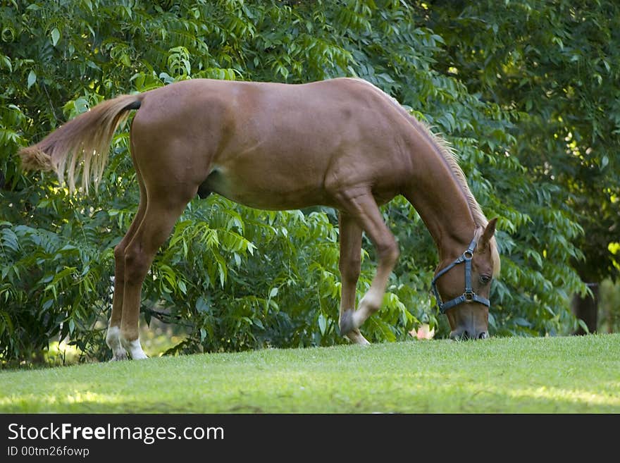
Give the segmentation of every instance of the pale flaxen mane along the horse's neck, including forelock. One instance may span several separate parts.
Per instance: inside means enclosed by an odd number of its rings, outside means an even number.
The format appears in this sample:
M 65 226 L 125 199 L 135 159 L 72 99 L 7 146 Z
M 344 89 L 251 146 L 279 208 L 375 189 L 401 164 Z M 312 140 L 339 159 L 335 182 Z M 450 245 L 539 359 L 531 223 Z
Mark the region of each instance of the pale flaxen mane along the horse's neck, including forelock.
M 459 166 L 457 154 L 456 152 L 454 152 L 452 145 L 447 142 L 444 137 L 434 133 L 427 123 L 419 121 L 419 119 L 411 116 L 409 111 L 405 110 L 402 105 L 397 101 L 397 99 L 392 97 L 390 94 L 383 92 L 382 89 L 364 79 L 356 80 L 359 80 L 360 82 L 365 82 L 366 84 L 376 89 L 378 92 L 384 94 L 385 97 L 389 98 L 392 101 L 392 104 L 397 106 L 400 111 L 407 115 L 407 118 L 409 118 L 409 121 L 411 121 L 412 125 L 414 125 L 416 130 L 419 130 L 421 135 L 426 137 L 426 139 L 431 144 L 433 144 L 433 147 L 435 147 L 435 151 L 438 152 L 445 160 L 447 166 L 450 168 L 450 171 L 452 171 L 452 175 L 454 175 L 454 179 L 457 180 L 457 183 L 461 187 L 461 191 L 463 192 L 463 195 L 467 200 L 467 204 L 469 204 L 469 210 L 471 211 L 471 216 L 473 216 L 473 222 L 476 224 L 476 228 L 485 228 L 489 221 L 483 213 L 480 204 L 478 204 L 476 198 L 473 197 L 469 185 L 467 184 L 467 179 L 465 178 L 463 169 L 461 169 L 461 166 Z M 491 259 L 493 261 L 493 275 L 498 276 L 500 274 L 500 252 L 497 250 L 497 241 L 495 240 L 495 236 L 491 238 L 490 246 Z

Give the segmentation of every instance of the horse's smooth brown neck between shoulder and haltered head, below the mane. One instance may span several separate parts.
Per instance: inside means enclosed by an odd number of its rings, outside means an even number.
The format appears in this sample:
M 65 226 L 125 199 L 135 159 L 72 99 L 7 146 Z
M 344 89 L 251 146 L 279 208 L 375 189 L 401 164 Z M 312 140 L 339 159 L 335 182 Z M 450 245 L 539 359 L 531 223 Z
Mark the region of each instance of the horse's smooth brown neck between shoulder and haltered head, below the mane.
M 435 240 L 440 259 L 452 259 L 466 249 L 476 230 L 476 222 L 461 185 L 447 161 L 434 149 L 418 153 L 426 166 L 411 175 L 409 202 Z

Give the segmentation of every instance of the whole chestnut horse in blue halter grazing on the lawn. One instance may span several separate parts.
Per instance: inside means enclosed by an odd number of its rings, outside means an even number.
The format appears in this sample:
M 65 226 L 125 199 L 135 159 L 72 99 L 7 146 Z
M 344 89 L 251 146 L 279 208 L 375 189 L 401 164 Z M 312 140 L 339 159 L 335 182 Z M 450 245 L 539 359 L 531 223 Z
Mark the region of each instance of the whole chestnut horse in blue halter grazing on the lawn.
M 140 205 L 116 261 L 106 342 L 113 359 L 147 357 L 138 335 L 140 293 L 151 261 L 190 200 L 211 192 L 259 209 L 322 204 L 339 211 L 340 332 L 380 309 L 399 249 L 379 206 L 403 195 L 433 236 L 432 287 L 451 338 L 488 337 L 490 281 L 500 270 L 488 221 L 445 142 L 368 82 L 302 85 L 196 79 L 125 94 L 22 149 L 23 168 L 56 171 L 70 190 L 101 179 L 118 124 L 137 110 L 130 152 Z M 362 232 L 376 247 L 371 287 L 355 309 Z M 463 265 L 460 265 L 463 264 Z

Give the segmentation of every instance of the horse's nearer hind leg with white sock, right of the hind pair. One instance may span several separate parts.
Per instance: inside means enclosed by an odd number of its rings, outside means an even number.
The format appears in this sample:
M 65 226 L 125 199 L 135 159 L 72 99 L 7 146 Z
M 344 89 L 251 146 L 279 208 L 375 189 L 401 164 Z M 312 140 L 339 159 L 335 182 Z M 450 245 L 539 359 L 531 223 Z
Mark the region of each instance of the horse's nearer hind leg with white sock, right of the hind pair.
M 147 188 L 148 190 L 148 188 Z M 170 235 L 183 209 L 196 195 L 190 192 L 158 187 L 148 192 L 147 209 L 135 235 L 125 247 L 125 288 L 123 292 L 123 315 L 120 323 L 120 342 L 132 359 L 144 359 L 138 333 L 140 295 L 142 283 L 159 247 Z

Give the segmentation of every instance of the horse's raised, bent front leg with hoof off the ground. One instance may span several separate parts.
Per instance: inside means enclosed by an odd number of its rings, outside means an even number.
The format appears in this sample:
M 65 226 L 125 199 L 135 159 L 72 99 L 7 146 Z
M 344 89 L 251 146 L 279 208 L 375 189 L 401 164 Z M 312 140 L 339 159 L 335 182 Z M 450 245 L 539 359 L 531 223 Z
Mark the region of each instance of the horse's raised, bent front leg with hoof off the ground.
M 395 237 L 385 225 L 370 191 L 344 192 L 338 195 L 338 199 L 343 209 L 356 219 L 372 240 L 379 261 L 371 288 L 359 302 L 358 309 L 347 309 L 340 316 L 340 333 L 347 334 L 359 328 L 369 316 L 380 309 L 387 278 L 396 264 L 399 251 Z

